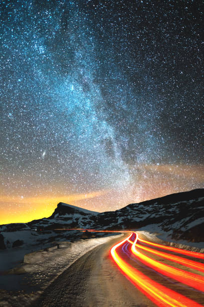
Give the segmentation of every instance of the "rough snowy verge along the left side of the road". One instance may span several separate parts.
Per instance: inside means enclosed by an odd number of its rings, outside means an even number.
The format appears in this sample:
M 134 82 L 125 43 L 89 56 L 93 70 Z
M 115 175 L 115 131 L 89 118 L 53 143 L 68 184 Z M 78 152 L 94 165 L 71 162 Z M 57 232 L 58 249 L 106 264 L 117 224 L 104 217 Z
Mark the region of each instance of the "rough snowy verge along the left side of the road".
M 43 290 L 64 270 L 82 255 L 94 247 L 120 237 L 121 234 L 101 238 L 79 240 L 73 242 L 68 248 L 59 248 L 47 252 L 41 251 L 40 261 L 33 264 L 19 263 L 20 268 L 25 268 L 24 274 L 0 274 L 0 306 L 28 306 L 35 300 Z M 26 248 L 8 249 L 1 251 L 4 263 L 1 263 L 1 270 L 11 267 L 12 259 L 22 259 L 28 251 Z M 16 262 L 16 263 L 15 263 Z M 13 261 L 13 265 L 18 261 Z

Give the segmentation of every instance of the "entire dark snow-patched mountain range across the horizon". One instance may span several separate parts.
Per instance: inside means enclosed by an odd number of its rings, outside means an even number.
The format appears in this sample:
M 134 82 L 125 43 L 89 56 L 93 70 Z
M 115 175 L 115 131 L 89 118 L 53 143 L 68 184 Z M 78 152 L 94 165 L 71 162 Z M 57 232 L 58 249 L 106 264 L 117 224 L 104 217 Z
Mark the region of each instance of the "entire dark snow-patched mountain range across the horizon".
M 0 225 L 0 248 L 1 244 L 3 248 L 4 245 L 8 247 L 7 237 L 10 237 L 8 240 L 10 242 L 12 236 L 8 233 L 11 231 L 18 231 L 18 234 L 21 234 L 19 240 L 27 242 L 27 239 L 23 238 L 22 230 L 27 233 L 29 228 L 31 229 L 30 239 L 42 243 L 65 240 L 68 235 L 65 232 L 56 231 L 56 229 L 131 230 L 145 229 L 150 225 L 152 229 L 165 232 L 169 239 L 204 242 L 204 189 L 171 194 L 103 213 L 59 203 L 49 218 L 34 220 L 27 224 Z M 77 238 L 78 235 L 75 234 L 75 236 Z M 13 237 L 16 238 L 16 235 Z M 16 244 L 20 244 L 20 242 Z M 9 246 L 11 245 L 13 242 L 10 242 Z

